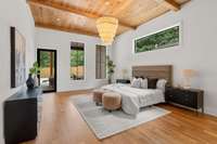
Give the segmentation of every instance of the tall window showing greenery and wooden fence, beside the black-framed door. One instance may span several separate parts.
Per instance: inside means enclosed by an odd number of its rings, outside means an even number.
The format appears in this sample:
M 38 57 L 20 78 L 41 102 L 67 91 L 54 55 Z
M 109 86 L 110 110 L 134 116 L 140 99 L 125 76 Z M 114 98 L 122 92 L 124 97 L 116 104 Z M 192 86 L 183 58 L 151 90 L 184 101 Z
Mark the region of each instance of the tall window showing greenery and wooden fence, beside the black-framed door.
M 85 79 L 85 44 L 71 42 L 71 79 Z

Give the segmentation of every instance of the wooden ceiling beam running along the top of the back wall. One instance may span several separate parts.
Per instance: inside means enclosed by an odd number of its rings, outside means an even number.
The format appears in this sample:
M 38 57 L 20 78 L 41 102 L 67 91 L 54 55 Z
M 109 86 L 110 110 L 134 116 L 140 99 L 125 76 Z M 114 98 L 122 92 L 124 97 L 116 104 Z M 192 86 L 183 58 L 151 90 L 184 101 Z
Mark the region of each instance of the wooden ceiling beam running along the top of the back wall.
M 56 26 L 56 25 L 52 25 L 52 24 L 42 24 L 42 23 L 35 23 L 35 25 L 36 25 L 36 27 L 41 27 L 41 28 L 55 29 L 55 30 L 61 30 L 61 31 L 66 31 L 66 32 L 75 32 L 75 34 L 99 37 L 99 35 L 95 32 L 84 30 L 80 28 L 64 28 L 61 26 Z

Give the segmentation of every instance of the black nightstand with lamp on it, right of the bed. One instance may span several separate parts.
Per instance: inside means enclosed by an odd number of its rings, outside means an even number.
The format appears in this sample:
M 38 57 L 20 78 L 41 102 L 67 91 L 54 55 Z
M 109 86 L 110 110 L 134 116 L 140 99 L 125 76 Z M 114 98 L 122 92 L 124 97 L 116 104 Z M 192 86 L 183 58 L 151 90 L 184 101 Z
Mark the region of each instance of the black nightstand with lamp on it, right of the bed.
M 204 113 L 204 91 L 200 89 L 166 88 L 165 100 L 168 103 Z

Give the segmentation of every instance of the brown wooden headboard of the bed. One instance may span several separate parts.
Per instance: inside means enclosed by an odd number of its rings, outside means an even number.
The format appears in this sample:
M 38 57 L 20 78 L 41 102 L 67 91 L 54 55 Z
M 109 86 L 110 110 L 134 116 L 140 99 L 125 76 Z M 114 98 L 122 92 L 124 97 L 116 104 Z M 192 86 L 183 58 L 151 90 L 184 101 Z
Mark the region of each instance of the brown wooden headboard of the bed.
M 166 79 L 167 86 L 173 86 L 171 65 L 132 66 L 132 77 Z

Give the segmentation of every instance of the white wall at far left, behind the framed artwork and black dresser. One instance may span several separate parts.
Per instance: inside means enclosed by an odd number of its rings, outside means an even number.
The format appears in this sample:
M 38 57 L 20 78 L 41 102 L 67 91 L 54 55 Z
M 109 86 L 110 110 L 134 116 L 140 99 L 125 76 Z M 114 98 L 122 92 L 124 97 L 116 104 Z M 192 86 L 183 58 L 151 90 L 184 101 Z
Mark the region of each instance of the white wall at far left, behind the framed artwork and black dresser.
M 2 102 L 17 90 L 10 87 L 10 26 L 15 26 L 26 39 L 27 69 L 35 60 L 34 19 L 25 0 L 0 0 L 0 144 L 3 144 Z

